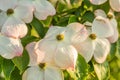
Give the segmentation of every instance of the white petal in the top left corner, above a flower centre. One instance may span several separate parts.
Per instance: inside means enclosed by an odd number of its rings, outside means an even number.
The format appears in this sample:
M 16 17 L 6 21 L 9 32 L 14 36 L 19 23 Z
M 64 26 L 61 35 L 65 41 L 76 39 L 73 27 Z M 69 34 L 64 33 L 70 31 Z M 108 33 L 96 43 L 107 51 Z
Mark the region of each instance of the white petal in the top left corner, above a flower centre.
M 14 9 L 17 5 L 17 0 L 0 0 L 0 9 L 7 11 L 8 9 Z

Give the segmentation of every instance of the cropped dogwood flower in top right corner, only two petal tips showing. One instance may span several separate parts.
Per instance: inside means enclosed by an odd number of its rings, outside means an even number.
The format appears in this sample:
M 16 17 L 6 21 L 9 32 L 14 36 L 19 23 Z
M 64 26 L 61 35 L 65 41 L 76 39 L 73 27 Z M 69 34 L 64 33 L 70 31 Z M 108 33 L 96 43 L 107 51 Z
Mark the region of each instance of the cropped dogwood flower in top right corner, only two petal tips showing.
M 90 0 L 92 4 L 100 5 L 105 3 L 107 0 Z M 114 11 L 120 12 L 120 0 L 109 0 L 110 6 Z

